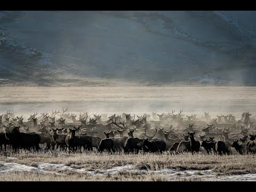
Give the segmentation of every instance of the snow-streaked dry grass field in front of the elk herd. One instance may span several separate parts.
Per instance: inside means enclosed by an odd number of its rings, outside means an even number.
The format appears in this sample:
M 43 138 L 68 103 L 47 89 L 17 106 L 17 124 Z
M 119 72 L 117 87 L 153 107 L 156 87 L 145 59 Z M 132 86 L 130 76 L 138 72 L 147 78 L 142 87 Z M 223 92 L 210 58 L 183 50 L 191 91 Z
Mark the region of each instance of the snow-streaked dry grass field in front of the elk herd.
M 21 151 L 10 156 L 0 157 L 1 181 L 256 180 L 255 155 Z

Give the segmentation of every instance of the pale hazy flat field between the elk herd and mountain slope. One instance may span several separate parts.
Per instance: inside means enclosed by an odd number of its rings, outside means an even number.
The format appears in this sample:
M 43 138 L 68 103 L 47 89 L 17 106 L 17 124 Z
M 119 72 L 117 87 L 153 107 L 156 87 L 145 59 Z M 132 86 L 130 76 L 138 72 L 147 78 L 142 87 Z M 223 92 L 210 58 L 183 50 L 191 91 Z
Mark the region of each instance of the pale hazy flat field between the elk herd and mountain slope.
M 183 108 L 183 114 L 212 116 L 241 111 L 256 113 L 256 87 L 174 86 L 174 87 L 1 87 L 0 113 L 15 110 L 28 116 L 31 111 L 68 107 L 79 113 L 151 113 Z

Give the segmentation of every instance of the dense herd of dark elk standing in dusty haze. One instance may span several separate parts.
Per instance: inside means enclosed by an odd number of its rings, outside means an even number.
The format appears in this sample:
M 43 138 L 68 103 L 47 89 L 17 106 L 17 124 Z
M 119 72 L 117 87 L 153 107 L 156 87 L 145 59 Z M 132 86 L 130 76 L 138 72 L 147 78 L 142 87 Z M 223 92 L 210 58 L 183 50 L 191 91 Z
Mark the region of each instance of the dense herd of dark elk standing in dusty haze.
M 129 153 L 139 151 L 174 154 L 202 152 L 205 154 L 256 153 L 255 119 L 249 112 L 241 118 L 217 115 L 211 118 L 197 114 L 76 114 L 67 108 L 52 113 L 22 116 L 7 111 L 0 115 L 0 146 L 14 152 L 25 150 L 108 151 Z M 37 117 L 38 116 L 38 117 Z M 238 120 L 236 120 L 238 118 Z

